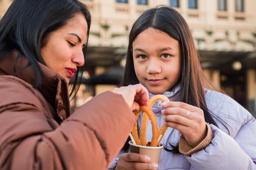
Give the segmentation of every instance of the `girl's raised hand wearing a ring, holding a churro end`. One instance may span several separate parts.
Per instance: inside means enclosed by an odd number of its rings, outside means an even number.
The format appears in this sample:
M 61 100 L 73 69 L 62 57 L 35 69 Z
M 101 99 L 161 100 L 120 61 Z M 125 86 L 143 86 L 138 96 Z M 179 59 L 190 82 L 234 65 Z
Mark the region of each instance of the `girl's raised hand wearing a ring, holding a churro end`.
M 197 146 L 206 137 L 207 128 L 202 109 L 184 102 L 171 101 L 163 102 L 162 107 L 165 108 L 162 114 L 166 115 L 164 124 L 182 132 L 191 146 Z

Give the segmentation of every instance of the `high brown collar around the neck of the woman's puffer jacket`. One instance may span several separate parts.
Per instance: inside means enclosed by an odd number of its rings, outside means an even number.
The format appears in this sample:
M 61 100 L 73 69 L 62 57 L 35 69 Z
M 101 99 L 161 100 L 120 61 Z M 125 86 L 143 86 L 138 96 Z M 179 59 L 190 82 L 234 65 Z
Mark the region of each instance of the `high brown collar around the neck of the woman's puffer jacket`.
M 16 65 L 14 66 L 15 62 Z M 18 72 L 27 64 L 28 60 L 26 57 L 22 55 L 21 52 L 15 50 L 0 60 L 0 75 L 14 75 L 14 70 Z M 38 89 L 54 108 L 58 118 L 60 118 L 60 120 L 65 120 L 71 114 L 67 81 L 47 66 L 41 63 L 38 64 L 43 73 L 43 80 L 40 87 L 37 87 L 36 89 Z M 27 67 L 16 76 L 33 86 L 35 85 L 35 71 L 31 66 Z

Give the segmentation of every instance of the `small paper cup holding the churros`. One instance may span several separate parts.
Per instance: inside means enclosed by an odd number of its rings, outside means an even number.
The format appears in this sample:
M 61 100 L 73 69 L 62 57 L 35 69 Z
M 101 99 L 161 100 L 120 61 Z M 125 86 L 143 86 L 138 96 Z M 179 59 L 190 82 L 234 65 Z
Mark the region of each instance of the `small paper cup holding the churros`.
M 147 141 L 147 144 L 148 142 L 150 141 Z M 133 144 L 132 141 L 130 141 L 129 144 L 130 144 L 131 153 L 148 155 L 150 157 L 150 162 L 159 163 L 161 151 L 162 151 L 162 148 L 164 147 L 162 144 L 158 144 L 158 146 L 156 147 L 136 145 L 136 144 Z

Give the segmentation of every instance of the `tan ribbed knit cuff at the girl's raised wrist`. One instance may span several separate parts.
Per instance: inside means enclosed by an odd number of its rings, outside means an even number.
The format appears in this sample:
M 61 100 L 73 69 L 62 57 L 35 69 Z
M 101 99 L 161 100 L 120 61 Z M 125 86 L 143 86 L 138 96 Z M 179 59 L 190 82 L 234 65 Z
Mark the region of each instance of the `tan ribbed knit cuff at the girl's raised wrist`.
M 213 138 L 213 133 L 211 131 L 211 128 L 208 123 L 206 123 L 207 127 L 207 135 L 206 137 L 200 142 L 197 146 L 193 148 L 193 146 L 190 146 L 188 142 L 186 142 L 186 139 L 184 135 L 181 133 L 180 135 L 180 141 L 179 141 L 179 150 L 180 153 L 186 155 L 186 156 L 191 156 L 193 153 L 197 153 L 200 150 L 203 150 L 206 148 L 210 143 L 211 139 Z

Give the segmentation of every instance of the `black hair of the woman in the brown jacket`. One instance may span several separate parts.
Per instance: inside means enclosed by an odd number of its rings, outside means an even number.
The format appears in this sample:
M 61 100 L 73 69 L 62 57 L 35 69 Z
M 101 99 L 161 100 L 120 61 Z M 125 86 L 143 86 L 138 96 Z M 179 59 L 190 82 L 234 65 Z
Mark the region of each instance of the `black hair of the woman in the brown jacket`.
M 14 49 L 19 50 L 34 68 L 37 78 L 34 86 L 40 86 L 42 71 L 37 62 L 45 65 L 40 52 L 43 43 L 49 33 L 65 26 L 77 13 L 85 16 L 88 25 L 85 56 L 91 24 L 90 11 L 85 4 L 79 0 L 14 0 L 0 20 L 0 59 Z M 70 87 L 70 96 L 76 94 L 81 83 L 83 66 L 77 70 Z

